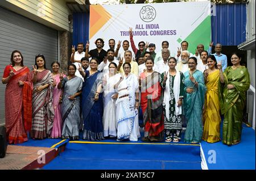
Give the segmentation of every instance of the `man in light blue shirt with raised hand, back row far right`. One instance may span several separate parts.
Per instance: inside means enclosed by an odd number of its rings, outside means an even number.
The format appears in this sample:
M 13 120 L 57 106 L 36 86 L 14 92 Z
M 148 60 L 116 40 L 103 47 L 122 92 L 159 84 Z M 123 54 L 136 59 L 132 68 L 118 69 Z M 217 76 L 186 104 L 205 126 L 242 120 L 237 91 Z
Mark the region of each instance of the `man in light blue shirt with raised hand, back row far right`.
M 208 48 L 208 54 L 212 54 L 212 45 L 213 43 L 210 44 L 210 47 Z M 214 57 L 216 58 L 217 60 L 217 63 L 221 62 L 221 65 L 222 65 L 222 71 L 224 71 L 226 69 L 226 67 L 228 66 L 228 58 L 226 57 L 225 54 L 222 54 L 221 53 L 221 50 L 222 50 L 222 45 L 217 43 L 215 45 L 215 53 L 213 53 Z

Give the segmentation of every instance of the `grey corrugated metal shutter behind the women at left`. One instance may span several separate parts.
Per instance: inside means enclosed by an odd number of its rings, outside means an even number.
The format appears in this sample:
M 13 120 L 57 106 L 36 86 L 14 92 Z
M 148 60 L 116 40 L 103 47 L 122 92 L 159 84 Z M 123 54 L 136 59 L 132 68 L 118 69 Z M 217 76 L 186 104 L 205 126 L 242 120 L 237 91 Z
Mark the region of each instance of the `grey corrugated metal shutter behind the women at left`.
M 57 61 L 58 32 L 0 7 L 0 76 L 10 64 L 11 52 L 20 50 L 23 63 L 32 69 L 35 55 L 44 54 L 46 66 Z M 50 69 L 51 70 L 51 69 Z M 0 83 L 0 125 L 5 123 L 5 85 Z

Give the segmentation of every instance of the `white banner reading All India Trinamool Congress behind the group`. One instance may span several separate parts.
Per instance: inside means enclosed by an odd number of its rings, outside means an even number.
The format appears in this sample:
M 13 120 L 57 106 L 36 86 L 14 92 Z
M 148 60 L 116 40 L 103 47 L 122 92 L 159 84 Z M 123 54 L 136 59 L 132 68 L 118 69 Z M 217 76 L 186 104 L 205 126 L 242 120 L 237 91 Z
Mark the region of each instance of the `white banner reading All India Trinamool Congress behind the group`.
M 104 39 L 106 50 L 109 39 L 116 45 L 118 40 L 130 41 L 129 28 L 133 28 L 137 48 L 139 41 L 147 41 L 156 45 L 157 53 L 162 41 L 168 41 L 174 55 L 186 40 L 189 52 L 195 53 L 198 44 L 209 47 L 210 1 L 90 6 L 91 49 L 96 48 L 94 41 L 99 37 Z

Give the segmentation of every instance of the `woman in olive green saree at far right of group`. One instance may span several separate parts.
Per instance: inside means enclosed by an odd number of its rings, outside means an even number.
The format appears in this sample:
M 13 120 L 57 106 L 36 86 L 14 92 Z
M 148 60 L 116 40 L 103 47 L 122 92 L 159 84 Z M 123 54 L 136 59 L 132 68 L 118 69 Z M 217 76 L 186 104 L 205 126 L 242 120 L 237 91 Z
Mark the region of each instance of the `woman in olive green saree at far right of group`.
M 241 66 L 241 56 L 233 53 L 233 66 L 228 66 L 224 73 L 220 68 L 219 98 L 221 113 L 224 115 L 222 142 L 236 145 L 241 141 L 243 108 L 245 107 L 246 91 L 250 87 L 250 75 L 245 66 Z

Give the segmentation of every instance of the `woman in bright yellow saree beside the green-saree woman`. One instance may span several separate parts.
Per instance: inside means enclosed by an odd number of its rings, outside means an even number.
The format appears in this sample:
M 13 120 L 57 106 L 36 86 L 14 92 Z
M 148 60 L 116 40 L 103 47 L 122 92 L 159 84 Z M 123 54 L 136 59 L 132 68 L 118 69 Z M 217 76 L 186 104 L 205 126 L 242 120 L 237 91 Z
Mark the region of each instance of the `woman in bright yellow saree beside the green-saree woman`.
M 205 94 L 203 124 L 203 140 L 209 143 L 220 141 L 220 103 L 218 100 L 218 82 L 220 71 L 217 68 L 217 61 L 213 55 L 207 57 L 208 69 L 204 71 Z

